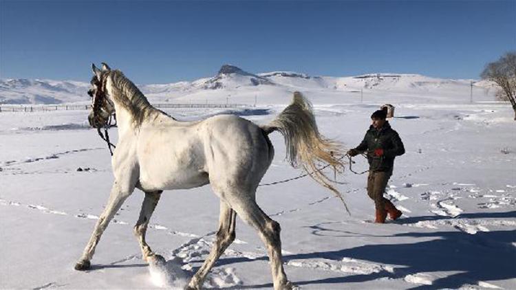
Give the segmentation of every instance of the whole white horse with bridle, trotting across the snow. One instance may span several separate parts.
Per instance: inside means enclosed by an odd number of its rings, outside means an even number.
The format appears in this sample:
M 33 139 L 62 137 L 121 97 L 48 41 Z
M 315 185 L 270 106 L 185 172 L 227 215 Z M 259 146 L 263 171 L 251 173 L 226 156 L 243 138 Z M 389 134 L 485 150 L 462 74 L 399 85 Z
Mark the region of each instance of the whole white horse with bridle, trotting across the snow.
M 294 93 L 292 104 L 266 126 L 235 115 L 217 115 L 200 122 L 180 122 L 155 109 L 121 71 L 93 65 L 93 97 L 89 123 L 101 128 L 116 111 L 118 143 L 111 159 L 114 183 L 109 201 L 95 225 L 77 270 L 90 267 L 95 247 L 109 221 L 134 188 L 145 192 L 140 218 L 134 226 L 147 263 L 164 263 L 145 242 L 145 232 L 163 190 L 187 189 L 210 183 L 220 199 L 219 230 L 204 264 L 187 289 L 201 289 L 204 278 L 224 250 L 235 240 L 236 215 L 254 227 L 266 245 L 275 289 L 290 289 L 281 262 L 279 223 L 272 221 L 255 201 L 259 181 L 270 166 L 274 148 L 268 138 L 273 131 L 286 139 L 292 166 L 302 166 L 316 181 L 341 195 L 316 164 L 343 168 L 338 157 L 343 148 L 317 130 L 310 104 Z

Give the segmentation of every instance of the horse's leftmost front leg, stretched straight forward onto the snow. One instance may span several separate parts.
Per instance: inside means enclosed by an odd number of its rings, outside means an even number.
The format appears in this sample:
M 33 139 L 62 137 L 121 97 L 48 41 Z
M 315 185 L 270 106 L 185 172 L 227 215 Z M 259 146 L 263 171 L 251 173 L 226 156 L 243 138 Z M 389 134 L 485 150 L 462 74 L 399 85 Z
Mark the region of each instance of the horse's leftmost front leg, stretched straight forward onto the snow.
M 109 224 L 109 221 L 113 219 L 116 212 L 118 212 L 122 206 L 122 203 L 124 203 L 127 197 L 131 195 L 133 189 L 134 188 L 131 187 L 131 190 L 122 190 L 120 184 L 117 181 L 113 183 L 106 208 L 98 218 L 92 236 L 89 238 L 89 241 L 84 249 L 83 256 L 80 257 L 77 264 L 75 265 L 76 270 L 84 271 L 89 269 L 89 260 L 92 260 L 93 254 L 95 253 L 95 247 L 100 240 L 100 236 L 102 236 L 103 232 L 106 230 L 107 225 Z

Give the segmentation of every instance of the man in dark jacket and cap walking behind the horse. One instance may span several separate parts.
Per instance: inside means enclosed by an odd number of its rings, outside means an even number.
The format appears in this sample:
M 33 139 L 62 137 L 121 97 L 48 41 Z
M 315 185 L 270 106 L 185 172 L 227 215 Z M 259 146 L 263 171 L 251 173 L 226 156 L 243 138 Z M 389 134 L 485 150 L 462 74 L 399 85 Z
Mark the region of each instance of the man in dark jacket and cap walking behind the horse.
M 387 181 L 392 175 L 394 157 L 405 153 L 403 142 L 396 131 L 385 120 L 387 111 L 378 110 L 371 115 L 372 125 L 365 133 L 364 140 L 356 148 L 347 151 L 355 156 L 367 151 L 369 177 L 367 177 L 367 194 L 374 200 L 376 208 L 375 223 L 385 223 L 387 213 L 392 220 L 398 219 L 402 212 L 388 199 L 383 197 Z

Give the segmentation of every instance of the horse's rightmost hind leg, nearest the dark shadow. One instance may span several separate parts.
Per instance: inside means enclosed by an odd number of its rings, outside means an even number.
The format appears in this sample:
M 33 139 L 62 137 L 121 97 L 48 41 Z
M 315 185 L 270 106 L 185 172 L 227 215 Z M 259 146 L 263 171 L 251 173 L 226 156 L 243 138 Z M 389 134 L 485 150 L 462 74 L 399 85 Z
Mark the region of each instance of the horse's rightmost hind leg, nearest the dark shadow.
M 241 219 L 258 231 L 261 241 L 266 245 L 274 289 L 292 289 L 293 285 L 287 280 L 281 261 L 281 239 L 279 238 L 281 228 L 279 223 L 270 219 L 270 217 L 259 208 L 251 195 L 245 199 L 237 198 L 230 201 L 230 205 Z

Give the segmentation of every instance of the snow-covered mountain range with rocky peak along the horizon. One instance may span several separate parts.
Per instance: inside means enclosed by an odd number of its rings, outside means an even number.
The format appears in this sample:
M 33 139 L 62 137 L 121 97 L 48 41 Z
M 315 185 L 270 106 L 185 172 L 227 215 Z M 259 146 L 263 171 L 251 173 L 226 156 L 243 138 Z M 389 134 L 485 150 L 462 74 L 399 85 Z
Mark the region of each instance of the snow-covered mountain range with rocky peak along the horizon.
M 360 98 L 405 97 L 418 102 L 469 100 L 471 82 L 475 100 L 493 100 L 492 82 L 450 80 L 419 74 L 365 74 L 361 76 L 309 76 L 294 71 L 252 74 L 223 65 L 211 78 L 193 82 L 138 85 L 151 102 L 286 103 L 292 91 L 322 96 L 321 102 L 353 102 Z M 89 101 L 87 82 L 58 80 L 0 80 L 0 104 L 58 104 Z M 358 93 L 358 94 L 357 94 Z M 375 100 L 376 101 L 376 100 Z M 383 100 L 378 100 L 379 102 Z

